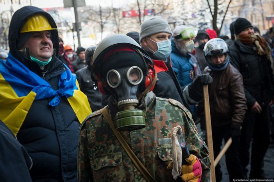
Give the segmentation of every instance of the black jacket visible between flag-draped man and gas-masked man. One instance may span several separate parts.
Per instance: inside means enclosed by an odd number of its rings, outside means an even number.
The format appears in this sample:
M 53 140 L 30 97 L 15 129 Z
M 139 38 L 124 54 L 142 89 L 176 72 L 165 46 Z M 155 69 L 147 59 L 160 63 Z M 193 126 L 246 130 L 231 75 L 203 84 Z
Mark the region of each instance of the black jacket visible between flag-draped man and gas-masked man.
M 89 104 L 93 112 L 108 104 L 108 96 L 103 95 L 91 79 L 90 67 L 82 68 L 75 74 L 77 75 L 80 90 L 88 96 Z

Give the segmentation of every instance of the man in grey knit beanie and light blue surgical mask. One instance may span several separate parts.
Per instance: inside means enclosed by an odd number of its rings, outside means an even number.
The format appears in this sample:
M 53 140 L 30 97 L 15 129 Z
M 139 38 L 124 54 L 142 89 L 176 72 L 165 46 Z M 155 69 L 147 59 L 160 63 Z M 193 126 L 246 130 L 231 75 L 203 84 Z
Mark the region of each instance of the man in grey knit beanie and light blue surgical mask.
M 154 16 L 142 22 L 140 28 L 141 47 L 152 58 L 158 76 L 153 92 L 159 97 L 178 100 L 189 109 L 188 104 L 202 99 L 202 85 L 211 83 L 211 76 L 200 74 L 181 89 L 170 61 L 172 31 L 169 24 L 160 16 Z

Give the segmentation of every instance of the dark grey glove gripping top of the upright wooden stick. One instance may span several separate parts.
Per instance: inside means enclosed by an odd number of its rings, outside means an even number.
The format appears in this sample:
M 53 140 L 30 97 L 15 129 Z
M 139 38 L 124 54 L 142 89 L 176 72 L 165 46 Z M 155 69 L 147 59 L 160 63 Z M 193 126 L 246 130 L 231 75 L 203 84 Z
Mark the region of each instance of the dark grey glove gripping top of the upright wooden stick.
M 188 86 L 188 94 L 191 99 L 199 101 L 203 98 L 203 85 L 212 83 L 213 78 L 209 74 L 197 75 Z

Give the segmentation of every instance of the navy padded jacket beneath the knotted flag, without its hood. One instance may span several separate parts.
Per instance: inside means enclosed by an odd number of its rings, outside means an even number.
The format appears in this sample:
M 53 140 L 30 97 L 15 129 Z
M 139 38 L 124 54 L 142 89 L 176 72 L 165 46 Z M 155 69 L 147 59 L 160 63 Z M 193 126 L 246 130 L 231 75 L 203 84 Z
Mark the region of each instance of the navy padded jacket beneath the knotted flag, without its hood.
M 45 80 L 58 90 L 60 74 L 66 70 L 57 58 Z M 51 99 L 34 100 L 17 138 L 33 161 L 33 182 L 77 181 L 77 147 L 80 123 L 67 98 L 49 106 Z

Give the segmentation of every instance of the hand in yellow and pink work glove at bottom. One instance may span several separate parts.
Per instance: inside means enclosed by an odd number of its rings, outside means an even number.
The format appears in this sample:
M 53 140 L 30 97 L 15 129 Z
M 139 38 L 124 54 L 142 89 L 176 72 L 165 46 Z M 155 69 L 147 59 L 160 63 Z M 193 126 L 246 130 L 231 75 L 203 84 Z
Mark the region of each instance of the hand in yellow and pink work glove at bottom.
M 190 154 L 185 161 L 188 165 L 182 166 L 182 180 L 184 182 L 200 182 L 202 179 L 202 167 L 199 159 Z

